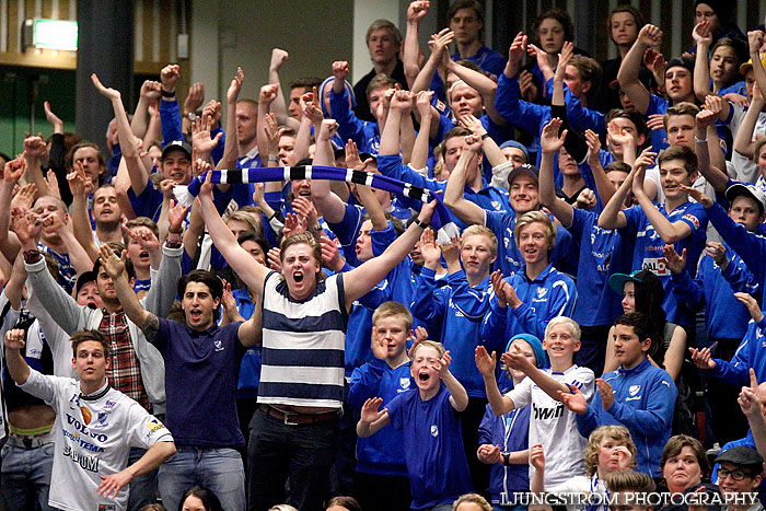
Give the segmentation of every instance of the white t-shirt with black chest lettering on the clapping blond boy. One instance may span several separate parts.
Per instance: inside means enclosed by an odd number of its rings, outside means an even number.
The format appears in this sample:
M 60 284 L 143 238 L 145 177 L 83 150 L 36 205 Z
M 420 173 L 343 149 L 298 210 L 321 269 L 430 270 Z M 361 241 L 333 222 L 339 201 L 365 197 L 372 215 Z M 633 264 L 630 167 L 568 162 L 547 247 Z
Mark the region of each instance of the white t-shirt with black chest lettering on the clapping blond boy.
M 564 373 L 542 370 L 557 382 L 577 386 L 590 403 L 595 376 L 588 368 L 572 365 Z M 576 414 L 525 378 L 507 394 L 517 408 L 532 405 L 530 414 L 530 446 L 543 444 L 545 452 L 545 488 L 553 488 L 574 476 L 585 475 L 582 453 L 588 445 L 577 430 Z M 530 464 L 530 480 L 535 468 Z

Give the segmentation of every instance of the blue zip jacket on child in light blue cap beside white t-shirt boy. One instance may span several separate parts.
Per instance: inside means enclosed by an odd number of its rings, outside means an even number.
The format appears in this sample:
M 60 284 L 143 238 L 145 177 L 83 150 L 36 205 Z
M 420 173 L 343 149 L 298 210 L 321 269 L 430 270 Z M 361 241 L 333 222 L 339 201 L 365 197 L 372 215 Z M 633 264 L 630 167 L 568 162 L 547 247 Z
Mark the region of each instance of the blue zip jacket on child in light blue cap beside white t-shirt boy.
M 529 449 L 531 406 L 515 408 L 508 414 L 495 415 L 487 405 L 479 425 L 479 445 L 500 445 L 501 451 L 515 452 Z M 530 491 L 529 465 L 502 465 L 489 467 L 489 492 L 492 504 L 512 502 L 513 493 Z

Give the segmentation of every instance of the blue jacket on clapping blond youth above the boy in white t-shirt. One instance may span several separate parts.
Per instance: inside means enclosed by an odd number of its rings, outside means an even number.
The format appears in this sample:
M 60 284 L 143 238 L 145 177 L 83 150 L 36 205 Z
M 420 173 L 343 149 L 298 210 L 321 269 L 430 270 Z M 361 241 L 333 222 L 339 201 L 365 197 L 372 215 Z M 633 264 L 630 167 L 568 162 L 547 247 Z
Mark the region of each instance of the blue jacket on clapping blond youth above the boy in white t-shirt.
M 481 323 L 481 339 L 498 339 L 504 344 L 517 334 L 545 338 L 545 327 L 556 316 L 571 316 L 577 291 L 572 279 L 549 264 L 534 280 L 524 271 L 506 277 L 515 290 L 521 305 L 502 309 L 492 293 L 489 311 Z

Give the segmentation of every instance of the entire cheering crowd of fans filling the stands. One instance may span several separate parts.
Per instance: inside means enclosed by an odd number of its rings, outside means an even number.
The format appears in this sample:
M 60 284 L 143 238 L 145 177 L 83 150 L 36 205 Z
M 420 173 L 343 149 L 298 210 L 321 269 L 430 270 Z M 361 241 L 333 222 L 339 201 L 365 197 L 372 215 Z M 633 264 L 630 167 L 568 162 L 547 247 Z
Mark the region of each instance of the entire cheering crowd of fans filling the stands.
M 556 8 L 494 51 L 476 0 L 422 53 L 414 1 L 356 84 L 329 56 L 288 90 L 275 48 L 225 116 L 177 65 L 131 115 L 95 70 L 106 152 L 46 102 L 2 156 L 0 509 L 763 510 L 766 40 L 734 7 L 665 59 L 619 5 L 597 62 Z

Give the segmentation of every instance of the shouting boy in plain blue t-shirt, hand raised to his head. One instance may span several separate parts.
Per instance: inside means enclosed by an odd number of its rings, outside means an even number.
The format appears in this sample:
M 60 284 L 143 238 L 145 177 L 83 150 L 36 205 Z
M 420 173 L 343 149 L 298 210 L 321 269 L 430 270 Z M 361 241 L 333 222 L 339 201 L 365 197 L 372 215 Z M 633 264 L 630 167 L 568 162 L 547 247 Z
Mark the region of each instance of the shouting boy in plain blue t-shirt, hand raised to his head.
M 455 499 L 472 491 L 460 427 L 468 394 L 450 373 L 452 358 L 441 344 L 423 340 L 410 358 L 417 392 L 402 393 L 380 411 L 382 398 L 367 399 L 357 434 L 370 437 L 388 423 L 404 430 L 411 509 L 451 510 Z

